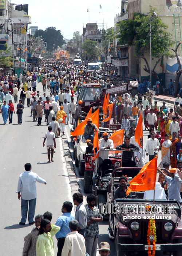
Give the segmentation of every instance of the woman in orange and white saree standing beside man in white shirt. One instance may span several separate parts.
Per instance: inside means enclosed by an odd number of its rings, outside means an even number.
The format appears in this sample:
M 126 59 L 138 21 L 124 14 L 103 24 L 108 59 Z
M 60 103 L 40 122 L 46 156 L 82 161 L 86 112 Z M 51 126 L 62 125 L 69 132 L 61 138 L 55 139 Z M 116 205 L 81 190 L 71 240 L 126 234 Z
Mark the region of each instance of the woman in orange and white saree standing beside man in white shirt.
M 169 134 L 165 134 L 165 139 L 161 140 L 161 144 L 159 146 L 159 150 L 161 150 L 162 161 L 159 166 L 163 168 L 163 163 L 169 163 L 170 165 L 170 155 L 172 154 L 172 142 L 169 139 Z

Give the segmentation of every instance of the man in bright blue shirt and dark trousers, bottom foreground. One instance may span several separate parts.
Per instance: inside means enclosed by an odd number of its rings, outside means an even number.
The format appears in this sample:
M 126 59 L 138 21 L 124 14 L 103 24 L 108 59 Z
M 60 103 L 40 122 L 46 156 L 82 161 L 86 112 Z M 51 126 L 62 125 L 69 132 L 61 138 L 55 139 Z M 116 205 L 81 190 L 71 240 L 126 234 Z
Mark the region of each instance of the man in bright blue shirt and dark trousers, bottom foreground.
M 73 205 L 71 202 L 64 202 L 61 211 L 63 214 L 57 219 L 55 225 L 61 227 L 59 232 L 56 233 L 56 239 L 58 240 L 58 254 L 57 256 L 61 256 L 62 249 L 64 246 L 64 240 L 66 238 L 66 235 L 71 232 L 69 227 L 69 222 L 72 219 L 75 219 L 71 215 Z

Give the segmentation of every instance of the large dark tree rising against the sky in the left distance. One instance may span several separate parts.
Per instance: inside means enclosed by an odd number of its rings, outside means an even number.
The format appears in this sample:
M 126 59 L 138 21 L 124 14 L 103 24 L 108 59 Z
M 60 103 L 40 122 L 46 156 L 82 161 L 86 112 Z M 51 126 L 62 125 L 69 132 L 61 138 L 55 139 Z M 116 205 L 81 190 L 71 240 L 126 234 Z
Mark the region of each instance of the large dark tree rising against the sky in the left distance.
M 35 31 L 34 37 L 42 37 L 47 42 L 47 50 L 53 51 L 62 46 L 65 41 L 60 30 L 56 30 L 55 27 L 48 27 L 46 30 L 39 29 Z

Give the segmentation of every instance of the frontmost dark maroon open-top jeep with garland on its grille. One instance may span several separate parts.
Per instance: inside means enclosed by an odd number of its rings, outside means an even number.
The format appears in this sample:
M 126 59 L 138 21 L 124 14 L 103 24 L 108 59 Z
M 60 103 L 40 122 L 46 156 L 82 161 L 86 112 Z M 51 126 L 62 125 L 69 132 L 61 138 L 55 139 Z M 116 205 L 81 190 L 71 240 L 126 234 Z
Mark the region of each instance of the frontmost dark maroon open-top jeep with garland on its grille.
M 152 199 L 143 199 L 144 192 L 136 192 L 137 196 L 129 195 L 126 198 L 114 199 L 114 192 L 118 185 L 118 181 L 114 178 L 117 171 L 116 169 L 112 172 L 107 193 L 109 205 L 117 206 L 119 209 L 119 212 L 109 213 L 108 227 L 110 239 L 115 239 L 116 255 L 148 255 L 147 230 L 151 218 L 155 219 L 156 225 L 155 255 L 182 255 L 182 222 L 179 218 L 181 216 L 179 202 L 166 199 L 155 200 L 153 203 Z M 155 209 L 153 212 L 150 211 L 152 207 Z M 152 250 L 152 245 L 150 247 Z

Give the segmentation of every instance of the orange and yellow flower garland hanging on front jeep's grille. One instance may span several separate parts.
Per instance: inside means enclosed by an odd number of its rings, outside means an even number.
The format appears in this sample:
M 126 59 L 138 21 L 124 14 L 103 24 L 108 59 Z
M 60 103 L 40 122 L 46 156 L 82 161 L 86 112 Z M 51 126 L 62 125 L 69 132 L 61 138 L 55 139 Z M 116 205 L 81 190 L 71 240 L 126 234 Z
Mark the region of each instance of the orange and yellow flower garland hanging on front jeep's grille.
M 151 248 L 150 246 L 148 246 L 148 256 L 155 256 L 155 243 L 157 241 L 157 237 L 156 237 L 156 228 L 155 228 L 155 219 L 150 219 L 149 220 L 149 224 L 148 224 L 148 230 L 147 230 L 147 244 L 150 245 L 150 240 L 149 240 L 149 236 L 153 235 L 154 236 L 154 240 L 153 242 L 153 252 L 151 254 Z

